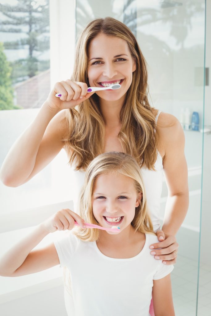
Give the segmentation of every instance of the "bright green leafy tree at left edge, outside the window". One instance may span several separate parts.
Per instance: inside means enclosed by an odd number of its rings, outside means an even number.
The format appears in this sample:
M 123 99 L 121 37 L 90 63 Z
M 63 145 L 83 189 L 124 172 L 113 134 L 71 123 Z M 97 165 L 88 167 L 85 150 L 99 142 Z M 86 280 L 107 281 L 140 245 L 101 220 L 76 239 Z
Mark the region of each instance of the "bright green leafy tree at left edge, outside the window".
M 0 110 L 12 110 L 19 107 L 13 104 L 13 88 L 10 78 L 11 67 L 3 52 L 4 46 L 0 42 Z

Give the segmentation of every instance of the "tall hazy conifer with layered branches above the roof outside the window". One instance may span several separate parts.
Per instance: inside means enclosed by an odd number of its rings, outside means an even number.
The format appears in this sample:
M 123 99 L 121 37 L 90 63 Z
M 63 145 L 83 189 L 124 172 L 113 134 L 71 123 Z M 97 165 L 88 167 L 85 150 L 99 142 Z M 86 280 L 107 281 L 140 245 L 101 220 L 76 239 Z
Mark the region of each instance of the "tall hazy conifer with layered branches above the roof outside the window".
M 41 3 L 41 4 L 40 4 Z M 39 52 L 49 49 L 49 0 L 19 0 L 17 5 L 0 4 L 7 19 L 0 32 L 24 33 L 25 37 L 4 42 L 5 49 L 26 49 L 28 56 L 11 63 L 12 81 L 20 82 L 49 69 L 49 60 L 39 60 Z

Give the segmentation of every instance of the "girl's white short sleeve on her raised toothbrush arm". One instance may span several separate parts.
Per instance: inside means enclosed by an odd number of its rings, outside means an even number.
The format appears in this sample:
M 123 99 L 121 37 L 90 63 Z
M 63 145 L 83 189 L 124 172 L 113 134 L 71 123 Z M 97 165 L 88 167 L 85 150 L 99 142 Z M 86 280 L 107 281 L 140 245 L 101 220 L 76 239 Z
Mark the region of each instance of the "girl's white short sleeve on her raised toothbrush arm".
M 60 267 L 67 267 L 78 245 L 78 238 L 70 231 L 58 232 L 53 242 L 59 257 Z

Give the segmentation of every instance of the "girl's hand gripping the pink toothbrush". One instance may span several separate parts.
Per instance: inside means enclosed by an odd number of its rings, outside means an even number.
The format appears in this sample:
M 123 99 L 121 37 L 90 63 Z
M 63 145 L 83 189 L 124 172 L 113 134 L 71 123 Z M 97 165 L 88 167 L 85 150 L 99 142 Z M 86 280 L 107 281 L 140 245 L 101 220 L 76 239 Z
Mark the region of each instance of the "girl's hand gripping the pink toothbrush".
M 69 209 L 62 209 L 49 217 L 42 224 L 48 233 L 54 233 L 56 230 L 71 230 L 75 225 L 75 221 L 81 225 L 81 227 L 84 226 L 84 219 L 78 214 Z

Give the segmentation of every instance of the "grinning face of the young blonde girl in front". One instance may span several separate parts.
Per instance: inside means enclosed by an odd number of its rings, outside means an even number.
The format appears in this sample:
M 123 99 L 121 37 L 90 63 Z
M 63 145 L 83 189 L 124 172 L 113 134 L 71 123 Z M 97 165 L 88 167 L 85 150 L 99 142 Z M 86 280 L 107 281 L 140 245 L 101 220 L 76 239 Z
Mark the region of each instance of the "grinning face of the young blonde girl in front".
M 93 188 L 93 214 L 102 227 L 119 226 L 121 232 L 130 228 L 141 198 L 142 193 L 136 192 L 131 178 L 114 173 L 101 174 Z

